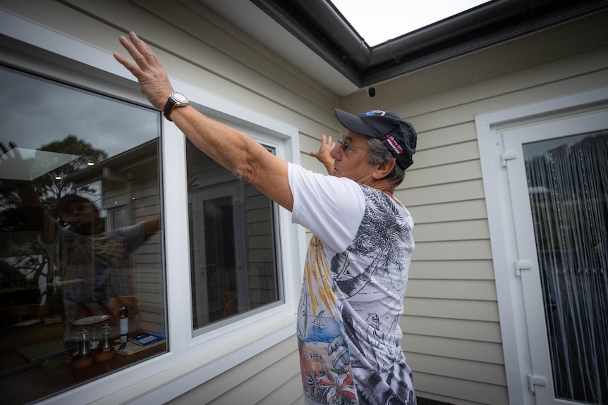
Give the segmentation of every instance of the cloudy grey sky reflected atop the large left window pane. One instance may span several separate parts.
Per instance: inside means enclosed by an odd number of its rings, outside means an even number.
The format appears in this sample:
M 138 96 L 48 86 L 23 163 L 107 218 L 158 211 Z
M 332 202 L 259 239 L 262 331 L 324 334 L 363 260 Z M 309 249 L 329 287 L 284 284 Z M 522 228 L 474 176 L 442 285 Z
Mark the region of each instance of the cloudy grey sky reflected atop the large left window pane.
M 115 156 L 159 135 L 150 108 L 0 67 L 0 141 L 38 149 L 75 135 Z

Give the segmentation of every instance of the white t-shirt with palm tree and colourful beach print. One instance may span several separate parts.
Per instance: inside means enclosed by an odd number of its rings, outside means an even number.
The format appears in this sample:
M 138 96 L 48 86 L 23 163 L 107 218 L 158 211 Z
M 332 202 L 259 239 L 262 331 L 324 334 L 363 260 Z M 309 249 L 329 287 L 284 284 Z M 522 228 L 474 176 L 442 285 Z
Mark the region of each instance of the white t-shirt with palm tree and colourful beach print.
M 293 223 L 314 234 L 298 308 L 307 404 L 415 405 L 401 350 L 413 219 L 387 194 L 289 165 Z

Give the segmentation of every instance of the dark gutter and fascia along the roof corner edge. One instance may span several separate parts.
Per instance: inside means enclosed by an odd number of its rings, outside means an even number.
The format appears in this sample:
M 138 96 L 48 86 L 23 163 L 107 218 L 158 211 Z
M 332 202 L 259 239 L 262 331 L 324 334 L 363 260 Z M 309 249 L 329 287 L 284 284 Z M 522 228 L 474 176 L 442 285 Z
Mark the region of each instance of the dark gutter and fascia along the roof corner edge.
M 250 0 L 358 87 L 608 8 L 608 0 L 494 0 L 370 47 L 327 0 Z

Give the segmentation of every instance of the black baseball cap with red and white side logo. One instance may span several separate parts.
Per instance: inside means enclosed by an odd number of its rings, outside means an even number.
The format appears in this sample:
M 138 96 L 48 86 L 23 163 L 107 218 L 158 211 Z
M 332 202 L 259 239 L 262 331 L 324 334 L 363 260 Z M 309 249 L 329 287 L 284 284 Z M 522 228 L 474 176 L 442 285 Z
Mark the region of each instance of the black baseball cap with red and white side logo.
M 332 112 L 346 129 L 380 139 L 403 170 L 414 163 L 412 155 L 416 153 L 416 130 L 411 123 L 402 120 L 396 113 L 372 110 L 353 116 L 338 108 L 334 108 Z

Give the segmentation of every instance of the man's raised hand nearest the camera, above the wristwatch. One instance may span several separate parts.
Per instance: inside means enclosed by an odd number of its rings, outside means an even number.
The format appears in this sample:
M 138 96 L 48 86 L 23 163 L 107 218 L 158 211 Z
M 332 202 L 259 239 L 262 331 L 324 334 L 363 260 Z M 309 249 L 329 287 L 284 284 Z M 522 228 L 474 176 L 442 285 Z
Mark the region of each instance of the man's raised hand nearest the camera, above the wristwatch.
M 130 39 L 130 40 L 129 40 Z M 135 63 L 114 52 L 114 58 L 140 82 L 141 92 L 150 103 L 160 111 L 163 110 L 173 86 L 166 75 L 158 56 L 147 46 L 135 32 L 129 32 L 129 39 L 121 35 L 120 42 L 133 58 Z

